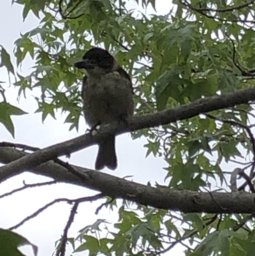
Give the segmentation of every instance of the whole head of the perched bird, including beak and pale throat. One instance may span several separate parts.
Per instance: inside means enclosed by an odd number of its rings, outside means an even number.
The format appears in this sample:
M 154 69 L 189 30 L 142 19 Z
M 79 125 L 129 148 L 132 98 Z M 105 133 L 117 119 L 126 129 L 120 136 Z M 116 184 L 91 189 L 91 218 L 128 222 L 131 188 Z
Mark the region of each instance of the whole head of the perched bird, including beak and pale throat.
M 114 72 L 119 64 L 107 50 L 93 47 L 84 54 L 82 61 L 75 63 L 75 67 L 84 68 L 91 76 Z

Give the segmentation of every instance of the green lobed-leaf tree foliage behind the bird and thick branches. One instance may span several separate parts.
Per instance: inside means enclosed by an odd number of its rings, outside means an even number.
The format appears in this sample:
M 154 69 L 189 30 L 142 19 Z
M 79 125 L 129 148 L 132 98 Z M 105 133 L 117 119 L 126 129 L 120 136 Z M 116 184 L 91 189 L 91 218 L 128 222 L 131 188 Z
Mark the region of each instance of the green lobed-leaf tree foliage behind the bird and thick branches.
M 138 116 L 254 86 L 255 1 L 175 0 L 166 15 L 157 13 L 157 4 L 163 4 L 159 0 L 13 2 L 24 6 L 24 20 L 31 11 L 40 26 L 15 42 L 17 63 L 11 63 L 1 47 L 1 67 L 15 76 L 12 86 L 20 96 L 39 89 L 36 112 L 41 112 L 42 121 L 61 110 L 68 113 L 70 130 L 78 129 L 83 74 L 73 65 L 92 45 L 110 50 L 132 75 Z M 18 66 L 27 56 L 34 66 L 24 77 Z M 14 135 L 11 115 L 25 113 L 8 103 L 2 87 L 0 92 L 0 122 Z M 132 136 L 147 138 L 147 156 L 164 159 L 164 187 L 169 190 L 234 192 L 240 176 L 248 184 L 242 190 L 254 193 L 254 117 L 247 102 Z M 106 207 L 113 204 L 109 199 Z M 80 230 L 80 243 L 64 237 L 59 255 L 67 241 L 75 252 L 87 250 L 89 255 L 159 255 L 178 243 L 186 246 L 186 255 L 254 254 L 251 215 L 180 213 L 131 207 L 126 200 L 118 213 L 114 230 L 106 220 L 98 220 Z M 108 234 L 102 232 L 103 225 Z

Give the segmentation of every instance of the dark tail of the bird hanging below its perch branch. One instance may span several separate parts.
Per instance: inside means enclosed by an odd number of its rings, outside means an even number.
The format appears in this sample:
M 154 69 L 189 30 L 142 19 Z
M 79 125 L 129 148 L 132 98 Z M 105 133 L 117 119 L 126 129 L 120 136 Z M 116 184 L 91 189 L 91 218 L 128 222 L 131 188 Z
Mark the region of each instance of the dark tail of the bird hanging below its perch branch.
M 99 143 L 99 151 L 96 158 L 96 170 L 101 170 L 104 167 L 108 167 L 111 170 L 117 168 L 115 136 L 109 136 Z

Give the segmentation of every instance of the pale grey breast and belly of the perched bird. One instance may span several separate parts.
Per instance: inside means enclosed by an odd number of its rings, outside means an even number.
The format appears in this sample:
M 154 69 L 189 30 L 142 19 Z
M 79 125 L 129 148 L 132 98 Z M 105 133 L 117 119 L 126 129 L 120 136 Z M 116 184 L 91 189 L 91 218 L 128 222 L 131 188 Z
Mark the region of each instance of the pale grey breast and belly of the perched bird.
M 112 123 L 133 114 L 131 84 L 114 73 L 87 79 L 83 98 L 85 119 L 91 125 Z

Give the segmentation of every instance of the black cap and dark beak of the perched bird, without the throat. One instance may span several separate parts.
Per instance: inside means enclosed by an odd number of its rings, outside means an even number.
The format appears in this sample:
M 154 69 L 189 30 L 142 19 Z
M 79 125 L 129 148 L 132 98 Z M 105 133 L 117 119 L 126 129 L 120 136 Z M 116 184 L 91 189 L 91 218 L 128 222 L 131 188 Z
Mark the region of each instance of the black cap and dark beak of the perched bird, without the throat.
M 82 61 L 75 63 L 75 67 L 85 70 L 93 70 L 95 67 L 111 70 L 114 63 L 114 57 L 107 50 L 93 47 L 84 54 Z

